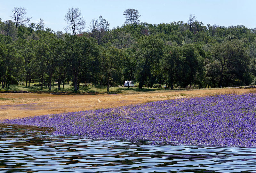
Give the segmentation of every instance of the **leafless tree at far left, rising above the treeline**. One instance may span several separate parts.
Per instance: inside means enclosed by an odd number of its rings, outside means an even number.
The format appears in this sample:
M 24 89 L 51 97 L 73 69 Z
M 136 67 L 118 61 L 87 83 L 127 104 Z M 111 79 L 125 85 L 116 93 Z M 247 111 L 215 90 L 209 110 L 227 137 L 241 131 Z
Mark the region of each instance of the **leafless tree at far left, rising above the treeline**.
M 14 7 L 14 9 L 12 10 L 12 19 L 14 20 L 15 26 L 16 28 L 18 27 L 19 24 L 24 24 L 24 23 L 28 23 L 30 19 L 32 19 L 31 17 L 26 18 L 25 14 L 27 14 L 26 12 L 26 8 L 20 7 Z

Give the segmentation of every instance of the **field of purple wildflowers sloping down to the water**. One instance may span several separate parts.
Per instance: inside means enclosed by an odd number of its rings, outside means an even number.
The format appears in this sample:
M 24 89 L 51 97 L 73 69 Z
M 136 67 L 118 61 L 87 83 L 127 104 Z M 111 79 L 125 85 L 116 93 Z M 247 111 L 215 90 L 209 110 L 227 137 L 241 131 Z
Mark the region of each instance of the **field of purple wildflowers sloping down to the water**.
M 256 95 L 216 95 L 50 114 L 0 123 L 53 127 L 85 138 L 256 146 Z

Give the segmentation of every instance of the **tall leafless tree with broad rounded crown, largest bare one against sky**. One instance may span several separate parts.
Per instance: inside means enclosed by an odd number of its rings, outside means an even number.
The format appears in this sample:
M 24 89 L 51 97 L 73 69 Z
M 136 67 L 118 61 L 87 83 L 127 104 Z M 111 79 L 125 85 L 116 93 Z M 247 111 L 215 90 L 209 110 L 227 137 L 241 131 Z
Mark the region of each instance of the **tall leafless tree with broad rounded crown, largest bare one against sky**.
M 74 35 L 81 33 L 85 27 L 86 21 L 81 17 L 81 11 L 79 8 L 68 8 L 65 14 L 65 20 L 68 26 L 65 28 L 66 31 L 72 31 Z

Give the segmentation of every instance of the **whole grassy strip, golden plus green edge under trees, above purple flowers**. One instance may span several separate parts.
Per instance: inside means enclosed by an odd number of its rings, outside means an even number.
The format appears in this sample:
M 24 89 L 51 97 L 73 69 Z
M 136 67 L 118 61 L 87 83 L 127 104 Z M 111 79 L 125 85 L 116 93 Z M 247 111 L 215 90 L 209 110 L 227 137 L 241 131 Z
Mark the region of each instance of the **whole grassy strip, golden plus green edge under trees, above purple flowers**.
M 29 88 L 26 87 L 15 87 L 19 90 L 29 91 Z M 36 87 L 34 89 L 38 89 Z M 72 86 L 65 85 L 65 87 L 66 90 L 61 90 L 61 92 L 68 92 L 69 90 L 70 92 L 64 94 L 51 94 L 49 93 L 48 88 L 44 88 L 45 93 L 43 91 L 35 92 L 35 90 L 30 90 L 35 93 L 0 93 L 0 107 L 4 105 L 21 105 L 19 110 L 17 110 L 17 107 L 14 109 L 10 106 L 1 109 L 0 112 L 3 114 L 1 114 L 0 119 L 110 108 L 157 100 L 256 92 L 256 89 L 234 88 L 211 88 L 200 90 L 142 88 L 140 90 L 137 87 L 129 89 L 127 87 L 110 87 L 110 92 L 107 93 L 106 86 L 80 86 L 79 91 L 74 93 L 71 92 L 74 89 Z M 53 86 L 52 92 L 58 92 L 57 89 L 57 86 Z M 87 93 L 88 91 L 89 93 Z M 84 94 L 81 94 L 82 92 L 84 92 Z M 31 107 L 33 110 L 23 109 L 27 108 L 26 104 L 32 104 Z

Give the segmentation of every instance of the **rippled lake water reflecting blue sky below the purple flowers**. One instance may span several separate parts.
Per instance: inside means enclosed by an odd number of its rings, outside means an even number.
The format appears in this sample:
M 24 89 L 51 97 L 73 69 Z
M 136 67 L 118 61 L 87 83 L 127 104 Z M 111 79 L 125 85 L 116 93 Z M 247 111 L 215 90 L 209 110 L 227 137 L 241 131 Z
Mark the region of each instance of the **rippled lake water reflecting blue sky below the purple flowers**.
M 46 130 L 0 124 L 0 173 L 256 172 L 256 148 L 90 140 Z

